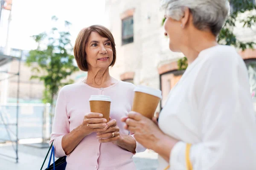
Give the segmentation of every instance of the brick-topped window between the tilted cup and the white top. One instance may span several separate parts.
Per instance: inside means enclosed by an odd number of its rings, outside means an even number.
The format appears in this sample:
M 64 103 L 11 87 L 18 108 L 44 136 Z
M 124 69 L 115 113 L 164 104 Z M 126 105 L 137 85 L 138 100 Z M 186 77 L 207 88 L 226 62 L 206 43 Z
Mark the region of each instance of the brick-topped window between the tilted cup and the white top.
M 162 101 L 160 102 L 161 109 L 166 104 L 169 92 L 180 80 L 183 73 L 184 71 L 169 71 L 160 75 L 160 88 L 163 96 Z

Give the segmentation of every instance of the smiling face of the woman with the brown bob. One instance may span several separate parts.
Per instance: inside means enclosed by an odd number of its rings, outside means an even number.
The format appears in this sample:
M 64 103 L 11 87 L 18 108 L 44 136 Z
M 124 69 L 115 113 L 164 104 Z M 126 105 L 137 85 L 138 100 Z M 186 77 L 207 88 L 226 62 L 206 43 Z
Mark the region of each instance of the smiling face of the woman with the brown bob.
M 94 68 L 106 69 L 113 61 L 111 41 L 96 32 L 90 34 L 85 51 L 89 70 Z

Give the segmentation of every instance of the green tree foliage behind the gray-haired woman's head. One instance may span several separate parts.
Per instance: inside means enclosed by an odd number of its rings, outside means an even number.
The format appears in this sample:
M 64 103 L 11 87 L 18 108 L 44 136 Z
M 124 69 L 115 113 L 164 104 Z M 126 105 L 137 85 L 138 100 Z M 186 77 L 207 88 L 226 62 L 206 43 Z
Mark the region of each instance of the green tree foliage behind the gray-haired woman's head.
M 256 10 L 254 0 L 230 0 L 230 16 L 227 18 L 224 27 L 218 36 L 218 43 L 223 45 L 233 45 L 236 48 L 244 51 L 247 48 L 253 48 L 256 43 L 242 42 L 237 40 L 236 35 L 233 33 L 236 24 L 242 24 L 243 28 L 251 28 L 256 23 L 256 15 L 253 15 L 252 11 Z M 245 14 L 246 13 L 246 14 Z M 246 17 L 241 17 L 241 14 Z M 162 20 L 162 25 L 165 19 Z M 185 57 L 186 58 L 186 57 Z M 180 64 L 179 64 L 180 63 Z M 179 70 L 186 70 L 187 60 L 181 58 L 178 60 Z

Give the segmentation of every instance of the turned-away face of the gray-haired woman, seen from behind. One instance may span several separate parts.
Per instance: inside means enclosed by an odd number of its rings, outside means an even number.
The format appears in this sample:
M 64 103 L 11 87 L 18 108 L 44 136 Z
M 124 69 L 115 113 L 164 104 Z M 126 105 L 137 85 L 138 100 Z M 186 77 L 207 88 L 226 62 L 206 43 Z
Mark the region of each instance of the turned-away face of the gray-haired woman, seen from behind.
M 171 17 L 166 17 L 164 22 L 165 35 L 169 37 L 169 48 L 173 52 L 180 52 L 182 44 L 182 27 L 181 23 Z

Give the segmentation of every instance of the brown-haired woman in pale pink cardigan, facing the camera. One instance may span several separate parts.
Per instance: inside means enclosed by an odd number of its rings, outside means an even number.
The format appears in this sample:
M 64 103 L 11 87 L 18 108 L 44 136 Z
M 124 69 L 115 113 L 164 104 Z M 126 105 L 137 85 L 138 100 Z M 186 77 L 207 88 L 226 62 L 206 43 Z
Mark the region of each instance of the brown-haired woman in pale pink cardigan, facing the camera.
M 132 156 L 145 149 L 120 121 L 131 111 L 135 86 L 109 74 L 116 62 L 113 35 L 104 26 L 82 29 L 74 55 L 88 74 L 59 92 L 50 141 L 55 155 L 67 156 L 66 170 L 136 170 Z M 90 113 L 89 98 L 98 94 L 111 96 L 109 122 L 101 113 Z

